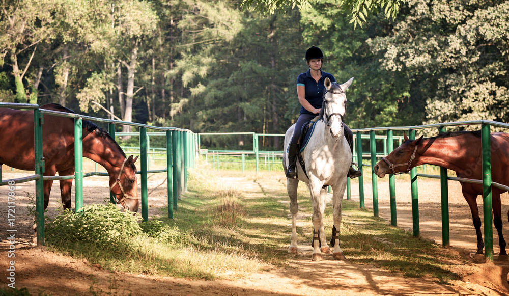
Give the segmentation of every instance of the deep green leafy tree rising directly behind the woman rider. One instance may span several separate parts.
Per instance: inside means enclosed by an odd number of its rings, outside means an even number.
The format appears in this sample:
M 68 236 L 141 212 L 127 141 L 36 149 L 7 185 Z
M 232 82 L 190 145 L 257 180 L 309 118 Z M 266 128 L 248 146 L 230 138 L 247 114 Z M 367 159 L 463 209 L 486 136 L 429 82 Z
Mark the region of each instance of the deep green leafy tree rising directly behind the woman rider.
M 354 30 L 346 19 L 347 12 L 330 0 L 320 1 L 301 14 L 304 43 L 321 47 L 324 71 L 332 73 L 338 83 L 355 77 L 347 91 L 346 123 L 350 127 L 422 122 L 423 103 L 409 96 L 405 74 L 381 67 L 383 55 L 370 46 L 369 40 L 391 32 L 391 21 L 371 16 L 364 28 Z

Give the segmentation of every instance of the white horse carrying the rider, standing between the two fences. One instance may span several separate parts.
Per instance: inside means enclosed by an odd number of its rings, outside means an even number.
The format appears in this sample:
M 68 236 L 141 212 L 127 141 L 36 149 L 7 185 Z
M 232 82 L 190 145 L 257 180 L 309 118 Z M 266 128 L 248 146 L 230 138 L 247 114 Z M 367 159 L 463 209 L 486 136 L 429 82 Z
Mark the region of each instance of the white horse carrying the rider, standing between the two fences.
M 290 212 L 292 213 L 292 235 L 288 248 L 289 253 L 297 253 L 296 218 L 299 205 L 297 202 L 297 186 L 299 180 L 309 187 L 313 204 L 313 240 L 312 260 L 323 260 L 323 253 L 330 254 L 323 226 L 323 212 L 327 186 L 332 187 L 332 206 L 334 225 L 330 245 L 334 247 L 332 257 L 345 259 L 340 248 L 341 202 L 347 186 L 347 174 L 352 164 L 352 152 L 344 136 L 343 122 L 345 119 L 347 98 L 345 90 L 352 84 L 353 77 L 346 83 L 339 85 L 331 83 L 325 78 L 325 91 L 320 118 L 315 123 L 315 129 L 302 151 L 306 172 L 297 159 L 298 179 L 287 179 L 287 190 L 290 197 Z M 292 140 L 295 124 L 285 134 L 285 148 Z M 288 153 L 284 149 L 283 167 L 285 173 L 288 168 Z M 316 242 L 317 241 L 317 242 Z

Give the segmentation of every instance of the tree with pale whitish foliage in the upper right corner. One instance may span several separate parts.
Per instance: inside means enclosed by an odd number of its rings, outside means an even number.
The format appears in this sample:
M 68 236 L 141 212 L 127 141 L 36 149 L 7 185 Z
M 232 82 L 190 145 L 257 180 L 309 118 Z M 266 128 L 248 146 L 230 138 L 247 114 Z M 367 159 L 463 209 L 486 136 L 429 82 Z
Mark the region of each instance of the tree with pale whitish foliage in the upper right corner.
M 413 0 L 408 16 L 373 46 L 382 66 L 406 73 L 410 95 L 426 101 L 426 123 L 506 122 L 507 32 L 508 2 Z

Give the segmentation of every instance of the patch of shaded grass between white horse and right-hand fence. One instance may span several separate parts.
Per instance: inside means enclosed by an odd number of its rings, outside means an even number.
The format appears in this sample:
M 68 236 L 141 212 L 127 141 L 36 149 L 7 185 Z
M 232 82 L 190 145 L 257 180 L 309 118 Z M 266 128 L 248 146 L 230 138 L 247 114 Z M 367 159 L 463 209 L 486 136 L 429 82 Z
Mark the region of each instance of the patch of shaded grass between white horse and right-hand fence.
M 332 224 L 332 213 L 326 214 Z M 332 227 L 326 227 L 327 233 Z M 429 240 L 419 239 L 393 227 L 358 203 L 343 200 L 342 249 L 349 259 L 360 264 L 375 264 L 384 270 L 412 278 L 435 277 L 442 283 L 461 279 L 452 267 L 468 262 Z

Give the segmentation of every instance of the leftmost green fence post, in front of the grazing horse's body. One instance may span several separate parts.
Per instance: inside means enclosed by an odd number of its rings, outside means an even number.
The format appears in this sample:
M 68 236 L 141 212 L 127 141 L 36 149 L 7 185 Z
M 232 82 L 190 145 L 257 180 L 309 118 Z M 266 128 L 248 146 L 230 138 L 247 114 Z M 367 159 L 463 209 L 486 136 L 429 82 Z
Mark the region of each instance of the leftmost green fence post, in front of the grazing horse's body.
M 39 179 L 35 181 L 37 246 L 46 245 L 44 238 L 44 185 L 42 178 L 44 173 L 44 157 L 42 155 L 43 116 L 39 109 L 34 109 L 35 174 L 39 175 Z

